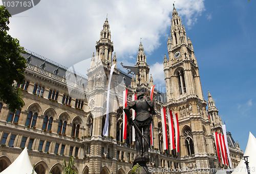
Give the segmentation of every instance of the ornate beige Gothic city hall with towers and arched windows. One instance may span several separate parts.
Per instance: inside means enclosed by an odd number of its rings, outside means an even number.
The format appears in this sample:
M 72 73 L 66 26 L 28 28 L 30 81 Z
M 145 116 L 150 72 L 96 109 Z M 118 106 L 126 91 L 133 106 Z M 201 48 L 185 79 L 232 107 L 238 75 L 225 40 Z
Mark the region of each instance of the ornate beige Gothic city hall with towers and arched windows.
M 214 139 L 215 132 L 222 134 L 222 120 L 211 94 L 208 92 L 207 101 L 203 98 L 193 44 L 186 36 L 175 8 L 170 36 L 166 40 L 168 54 L 163 57 L 164 69 L 159 70 L 164 71 L 166 93 L 154 91 L 157 115 L 153 120 L 154 146 L 150 148 L 148 167 L 225 167 L 219 163 Z M 28 148 L 30 161 L 38 174 L 62 173 L 62 161 L 68 161 L 70 156 L 74 157 L 76 165 L 73 168 L 78 173 L 131 172 L 136 149 L 129 123 L 125 125 L 127 138 L 122 138 L 122 95 L 127 89 L 127 103 L 132 101 L 139 84 L 138 75 L 128 75 L 115 67 L 110 91 L 109 136 L 102 134 L 110 69 L 112 64 L 120 63 L 113 53 L 106 19 L 86 75 L 29 50 L 22 54 L 27 59 L 27 68 L 24 83 L 17 86 L 22 90 L 25 105 L 11 112 L 8 105 L 0 101 L 0 172 L 18 157 L 24 147 Z M 150 91 L 154 82 L 141 43 L 135 67 L 139 67 L 140 85 Z M 178 153 L 176 149 L 163 149 L 161 107 L 178 113 Z M 236 167 L 243 151 L 229 132 L 227 139 L 230 163 Z

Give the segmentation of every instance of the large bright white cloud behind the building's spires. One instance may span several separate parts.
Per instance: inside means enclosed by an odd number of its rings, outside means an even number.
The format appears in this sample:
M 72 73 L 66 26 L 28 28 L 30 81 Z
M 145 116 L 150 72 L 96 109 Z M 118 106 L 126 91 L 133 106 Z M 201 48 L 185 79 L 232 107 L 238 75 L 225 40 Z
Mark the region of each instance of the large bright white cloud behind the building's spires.
M 175 7 L 187 28 L 204 10 L 204 0 L 180 0 Z M 134 64 L 140 37 L 147 54 L 169 34 L 172 1 L 40 1 L 11 18 L 10 34 L 20 45 L 66 67 L 88 59 L 108 14 L 118 64 Z

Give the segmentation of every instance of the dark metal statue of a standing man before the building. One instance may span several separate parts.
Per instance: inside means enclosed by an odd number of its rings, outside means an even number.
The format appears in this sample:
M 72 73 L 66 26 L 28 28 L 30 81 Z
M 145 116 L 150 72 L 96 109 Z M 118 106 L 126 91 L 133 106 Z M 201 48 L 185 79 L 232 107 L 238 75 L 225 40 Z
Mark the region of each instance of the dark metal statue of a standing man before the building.
M 148 157 L 148 143 L 150 143 L 150 124 L 153 120 L 153 116 L 156 115 L 154 110 L 154 103 L 149 98 L 144 98 L 144 94 L 146 89 L 143 87 L 137 87 L 137 99 L 132 101 L 130 104 L 127 105 L 123 110 L 127 116 L 127 121 L 129 124 L 135 126 L 135 140 L 136 140 L 136 157 L 134 162 L 136 161 L 150 161 Z M 130 110 L 133 108 L 136 112 L 135 119 L 132 119 L 130 114 Z M 136 129 L 136 126 L 138 129 Z M 146 139 L 142 144 L 142 130 L 143 136 Z M 144 147 L 144 150 L 143 150 Z

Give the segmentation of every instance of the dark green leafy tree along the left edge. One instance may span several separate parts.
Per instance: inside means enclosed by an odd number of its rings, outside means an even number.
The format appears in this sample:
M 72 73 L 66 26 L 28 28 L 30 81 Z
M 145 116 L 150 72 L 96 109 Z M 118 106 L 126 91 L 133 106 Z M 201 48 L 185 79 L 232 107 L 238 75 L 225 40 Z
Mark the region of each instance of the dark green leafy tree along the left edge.
M 7 33 L 10 17 L 8 10 L 0 6 L 0 100 L 8 104 L 11 111 L 15 111 L 24 105 L 15 81 L 23 82 L 26 59 L 20 55 L 24 53 L 24 48 L 19 46 L 18 39 Z

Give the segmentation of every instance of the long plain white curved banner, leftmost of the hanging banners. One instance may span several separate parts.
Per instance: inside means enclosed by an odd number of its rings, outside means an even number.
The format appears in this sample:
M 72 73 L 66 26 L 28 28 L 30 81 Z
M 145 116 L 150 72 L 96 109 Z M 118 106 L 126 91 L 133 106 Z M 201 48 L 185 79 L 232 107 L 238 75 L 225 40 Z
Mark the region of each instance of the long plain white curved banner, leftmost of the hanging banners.
M 109 111 L 110 111 L 110 86 L 111 86 L 111 79 L 112 74 L 114 71 L 116 64 L 113 64 L 110 70 L 110 79 L 109 79 L 109 86 L 108 86 L 108 94 L 106 95 L 106 120 L 103 128 L 103 136 L 109 135 Z

